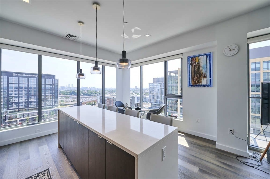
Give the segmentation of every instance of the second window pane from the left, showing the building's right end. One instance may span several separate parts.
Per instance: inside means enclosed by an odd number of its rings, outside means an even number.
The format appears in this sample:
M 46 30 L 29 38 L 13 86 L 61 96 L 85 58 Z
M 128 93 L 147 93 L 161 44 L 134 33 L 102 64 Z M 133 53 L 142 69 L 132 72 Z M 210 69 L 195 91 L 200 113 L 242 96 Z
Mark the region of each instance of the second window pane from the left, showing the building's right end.
M 77 61 L 42 55 L 41 71 L 41 118 L 42 121 L 57 119 L 59 107 L 78 105 Z

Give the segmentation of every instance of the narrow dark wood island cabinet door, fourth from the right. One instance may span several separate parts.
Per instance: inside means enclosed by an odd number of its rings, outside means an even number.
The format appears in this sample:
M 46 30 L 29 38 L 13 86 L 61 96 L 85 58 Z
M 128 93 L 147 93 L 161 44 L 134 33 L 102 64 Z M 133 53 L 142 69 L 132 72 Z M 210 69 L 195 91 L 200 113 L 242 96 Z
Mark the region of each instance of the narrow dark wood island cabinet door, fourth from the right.
M 77 170 L 77 122 L 69 118 L 69 160 Z

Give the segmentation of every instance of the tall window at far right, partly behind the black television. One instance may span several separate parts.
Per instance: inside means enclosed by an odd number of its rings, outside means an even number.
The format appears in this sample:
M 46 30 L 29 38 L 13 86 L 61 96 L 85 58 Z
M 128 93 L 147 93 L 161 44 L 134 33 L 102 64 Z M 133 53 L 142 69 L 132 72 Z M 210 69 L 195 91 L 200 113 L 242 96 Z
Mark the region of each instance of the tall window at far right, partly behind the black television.
M 252 41 L 252 40 L 251 40 Z M 261 82 L 270 82 L 270 40 L 249 43 L 249 140 L 257 136 L 261 126 Z M 264 136 L 266 135 L 266 137 Z M 264 149 L 270 140 L 270 127 L 249 142 L 253 148 Z

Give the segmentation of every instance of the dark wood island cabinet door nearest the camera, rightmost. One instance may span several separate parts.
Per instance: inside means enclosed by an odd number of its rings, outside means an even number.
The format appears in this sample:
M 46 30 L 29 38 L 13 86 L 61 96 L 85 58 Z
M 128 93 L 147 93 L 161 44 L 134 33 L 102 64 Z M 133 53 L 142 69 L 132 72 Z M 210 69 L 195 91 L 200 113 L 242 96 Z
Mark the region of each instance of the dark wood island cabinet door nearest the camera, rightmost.
M 106 142 L 106 178 L 135 178 L 135 157 Z

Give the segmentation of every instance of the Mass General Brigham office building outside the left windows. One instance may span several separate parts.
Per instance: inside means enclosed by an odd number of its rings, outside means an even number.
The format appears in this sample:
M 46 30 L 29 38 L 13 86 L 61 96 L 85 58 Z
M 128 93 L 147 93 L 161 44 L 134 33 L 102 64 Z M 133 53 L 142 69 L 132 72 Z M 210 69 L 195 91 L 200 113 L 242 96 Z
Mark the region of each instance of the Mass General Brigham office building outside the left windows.
M 20 118 L 17 113 L 58 107 L 58 79 L 42 74 L 42 94 L 38 99 L 38 74 L 2 71 L 1 110 Z M 23 115 L 23 114 L 22 114 Z M 12 117 L 11 117 L 12 118 Z M 5 119 L 6 120 L 6 119 Z

